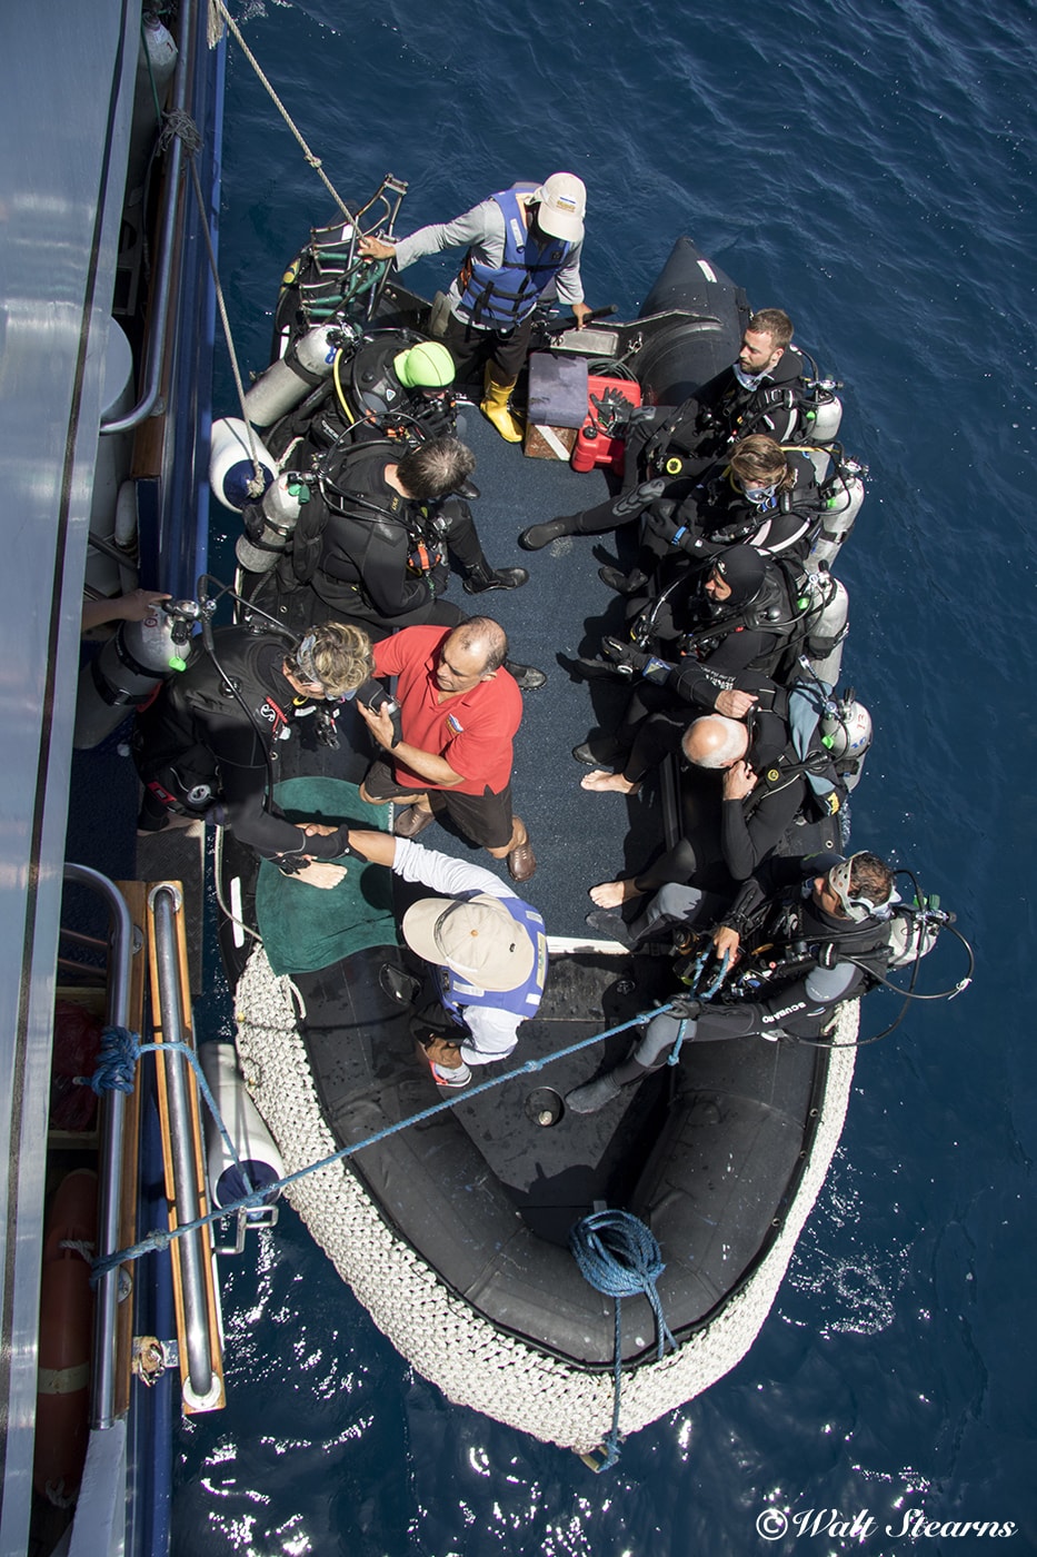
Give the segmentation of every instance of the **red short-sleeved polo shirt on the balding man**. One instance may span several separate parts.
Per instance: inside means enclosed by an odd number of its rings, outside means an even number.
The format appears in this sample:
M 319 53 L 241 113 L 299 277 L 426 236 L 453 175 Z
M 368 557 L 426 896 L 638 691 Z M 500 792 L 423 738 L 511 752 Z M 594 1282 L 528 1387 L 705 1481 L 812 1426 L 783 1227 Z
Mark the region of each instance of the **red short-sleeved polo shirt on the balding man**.
M 511 778 L 512 740 L 522 722 L 522 693 L 506 670 L 470 691 L 441 701 L 436 687 L 439 646 L 452 627 L 403 627 L 374 646 L 375 676 L 395 676 L 403 740 L 422 752 L 445 758 L 461 783 L 459 794 L 500 794 Z M 392 754 L 388 754 L 389 758 Z M 402 763 L 394 763 L 397 783 L 408 789 L 436 789 Z

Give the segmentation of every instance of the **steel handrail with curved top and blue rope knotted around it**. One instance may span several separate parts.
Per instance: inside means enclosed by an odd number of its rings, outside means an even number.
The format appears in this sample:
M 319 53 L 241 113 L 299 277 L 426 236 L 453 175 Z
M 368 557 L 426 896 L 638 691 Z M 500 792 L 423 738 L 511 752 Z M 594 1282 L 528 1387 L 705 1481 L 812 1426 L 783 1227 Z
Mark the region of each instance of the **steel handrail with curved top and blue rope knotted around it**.
M 126 1026 L 129 1009 L 129 964 L 132 958 L 132 922 L 123 894 L 114 881 L 89 866 L 65 864 L 65 881 L 92 887 L 109 906 L 112 919 L 112 953 L 109 959 L 107 1020 L 114 1028 Z M 120 1196 L 123 1183 L 123 1116 L 126 1098 L 121 1091 L 106 1091 L 100 1102 L 100 1182 L 97 1256 L 104 1260 L 118 1249 Z M 97 1285 L 93 1308 L 93 1373 L 90 1380 L 90 1426 L 115 1425 L 115 1325 L 118 1317 L 120 1269 L 107 1271 Z

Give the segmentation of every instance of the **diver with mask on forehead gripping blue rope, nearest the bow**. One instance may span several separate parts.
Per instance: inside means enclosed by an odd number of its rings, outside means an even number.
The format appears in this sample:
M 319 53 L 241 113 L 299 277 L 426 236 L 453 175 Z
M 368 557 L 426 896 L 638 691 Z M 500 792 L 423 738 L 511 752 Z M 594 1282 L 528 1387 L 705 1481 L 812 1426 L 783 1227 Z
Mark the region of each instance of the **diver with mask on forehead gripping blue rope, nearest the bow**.
M 694 902 L 688 889 L 684 891 L 682 917 L 693 920 L 702 909 L 702 895 Z M 623 1087 L 665 1065 L 679 1037 L 685 1043 L 754 1035 L 769 1043 L 819 1037 L 841 1001 L 867 992 L 870 968 L 881 973 L 888 965 L 889 912 L 895 902 L 894 873 L 877 855 L 855 853 L 835 863 L 830 855 L 768 859 L 722 916 L 713 934 L 713 953 L 733 962 L 743 937 L 761 923 L 760 909 L 766 906 L 779 920 L 766 931 L 768 956 L 774 961 L 775 948 L 802 945 L 796 973 L 785 979 L 775 976 L 761 1000 L 727 1006 L 690 1000 L 684 1003 L 685 1014 L 652 1017 L 631 1057 L 570 1091 L 565 1105 L 573 1113 L 596 1113 Z M 649 911 L 648 928 L 663 917 L 668 917 L 665 911 L 654 919 Z

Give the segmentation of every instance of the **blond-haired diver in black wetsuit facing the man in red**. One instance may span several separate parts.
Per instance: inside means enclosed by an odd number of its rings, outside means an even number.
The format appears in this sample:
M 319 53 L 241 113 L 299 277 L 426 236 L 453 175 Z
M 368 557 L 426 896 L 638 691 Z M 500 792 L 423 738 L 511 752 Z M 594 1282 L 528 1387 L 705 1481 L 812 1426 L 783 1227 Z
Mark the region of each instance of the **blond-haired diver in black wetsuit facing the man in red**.
M 145 785 L 139 830 L 210 819 L 263 859 L 296 873 L 344 853 L 338 833 L 307 838 L 269 799 L 271 752 L 302 715 L 357 691 L 372 673 L 358 627 L 325 623 L 294 649 L 251 627 L 218 627 L 212 652 L 195 640 L 187 670 L 137 716 L 134 760 Z

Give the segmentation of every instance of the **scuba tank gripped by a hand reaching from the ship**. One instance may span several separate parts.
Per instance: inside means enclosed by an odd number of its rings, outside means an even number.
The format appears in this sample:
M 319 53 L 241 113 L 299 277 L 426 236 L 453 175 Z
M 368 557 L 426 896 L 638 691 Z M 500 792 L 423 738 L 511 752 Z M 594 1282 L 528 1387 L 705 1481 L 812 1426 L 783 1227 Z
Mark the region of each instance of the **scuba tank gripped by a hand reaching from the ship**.
M 198 620 L 193 599 L 167 601 L 143 621 L 120 621 L 118 631 L 79 673 L 72 744 L 87 750 L 117 730 L 131 708 L 187 668 L 185 649 Z

